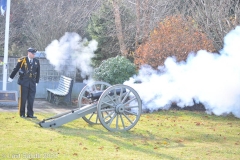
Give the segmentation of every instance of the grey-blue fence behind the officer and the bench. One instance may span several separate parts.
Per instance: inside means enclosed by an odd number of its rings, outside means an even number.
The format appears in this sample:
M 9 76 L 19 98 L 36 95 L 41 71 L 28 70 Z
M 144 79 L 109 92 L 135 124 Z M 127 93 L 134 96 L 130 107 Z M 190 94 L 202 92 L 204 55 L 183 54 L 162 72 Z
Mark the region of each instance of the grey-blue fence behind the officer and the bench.
M 3 61 L 3 56 L 0 56 L 0 61 Z M 54 70 L 54 66 L 49 63 L 49 61 L 45 58 L 45 55 L 41 52 L 37 52 L 36 58 L 39 59 L 40 62 L 40 80 L 37 86 L 36 98 L 45 98 L 46 97 L 46 88 L 56 88 L 58 85 L 58 81 L 61 75 L 65 75 L 74 80 L 73 86 L 73 98 L 77 98 L 81 89 L 85 86 L 82 82 L 76 82 L 77 69 L 75 66 L 71 66 L 71 62 L 69 63 L 67 68 L 68 70 L 62 70 L 57 72 Z M 8 58 L 8 70 L 7 77 L 11 74 L 13 68 L 16 66 L 19 57 L 9 57 Z M 71 70 L 69 70 L 71 68 Z M 18 75 L 14 77 L 12 83 L 7 83 L 7 90 L 18 90 L 17 84 Z M 2 90 L 2 80 L 3 80 L 3 65 L 0 65 L 0 90 Z M 18 94 L 19 95 L 19 94 Z

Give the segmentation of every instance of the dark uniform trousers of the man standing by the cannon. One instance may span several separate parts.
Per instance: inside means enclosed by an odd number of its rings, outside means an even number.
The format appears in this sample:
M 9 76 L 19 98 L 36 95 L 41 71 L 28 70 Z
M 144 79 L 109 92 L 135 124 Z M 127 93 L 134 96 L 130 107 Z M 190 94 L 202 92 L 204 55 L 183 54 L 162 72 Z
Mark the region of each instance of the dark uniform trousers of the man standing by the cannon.
M 27 116 L 33 116 L 33 102 L 36 94 L 36 86 L 30 87 L 20 85 L 20 102 L 19 102 L 19 109 L 20 109 L 20 116 L 25 116 L 25 106 L 27 102 Z

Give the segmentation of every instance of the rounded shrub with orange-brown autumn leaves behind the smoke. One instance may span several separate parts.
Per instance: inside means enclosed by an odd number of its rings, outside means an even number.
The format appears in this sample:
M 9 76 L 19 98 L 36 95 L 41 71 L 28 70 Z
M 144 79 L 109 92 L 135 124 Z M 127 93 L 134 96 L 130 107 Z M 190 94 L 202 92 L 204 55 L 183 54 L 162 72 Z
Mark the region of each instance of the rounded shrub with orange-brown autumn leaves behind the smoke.
M 160 22 L 149 39 L 141 44 L 134 55 L 137 67 L 148 64 L 153 68 L 164 65 L 168 57 L 177 61 L 186 60 L 190 52 L 214 51 L 213 42 L 201 32 L 194 20 L 172 16 Z

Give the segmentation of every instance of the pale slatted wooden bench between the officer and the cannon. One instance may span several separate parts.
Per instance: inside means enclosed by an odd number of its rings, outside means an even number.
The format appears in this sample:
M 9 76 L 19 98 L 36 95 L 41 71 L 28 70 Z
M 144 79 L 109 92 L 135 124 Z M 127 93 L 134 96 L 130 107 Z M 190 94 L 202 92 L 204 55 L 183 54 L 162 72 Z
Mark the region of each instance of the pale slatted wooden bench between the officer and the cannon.
M 66 76 L 61 76 L 56 89 L 47 88 L 47 100 L 58 105 L 60 102 L 72 105 L 73 80 Z

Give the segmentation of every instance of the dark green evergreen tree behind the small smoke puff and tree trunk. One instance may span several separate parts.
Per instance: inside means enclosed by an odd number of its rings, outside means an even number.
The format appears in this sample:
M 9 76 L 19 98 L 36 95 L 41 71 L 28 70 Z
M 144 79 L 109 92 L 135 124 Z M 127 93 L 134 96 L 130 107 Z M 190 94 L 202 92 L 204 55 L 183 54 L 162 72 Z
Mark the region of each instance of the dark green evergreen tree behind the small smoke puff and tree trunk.
M 128 30 L 126 26 L 132 21 L 133 17 L 123 5 L 121 5 L 120 11 L 122 13 L 121 16 L 123 16 L 122 26 L 124 34 L 127 35 L 126 39 L 128 39 L 126 43 L 127 48 L 130 48 L 134 43 L 134 35 L 129 38 L 129 32 L 132 31 Z M 93 66 L 97 67 L 103 60 L 121 55 L 113 8 L 110 2 L 103 3 L 101 9 L 91 16 L 87 32 L 92 39 L 98 42 L 98 50 L 95 52 L 96 56 L 93 58 Z

